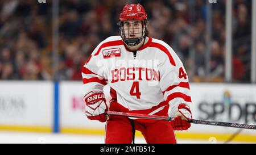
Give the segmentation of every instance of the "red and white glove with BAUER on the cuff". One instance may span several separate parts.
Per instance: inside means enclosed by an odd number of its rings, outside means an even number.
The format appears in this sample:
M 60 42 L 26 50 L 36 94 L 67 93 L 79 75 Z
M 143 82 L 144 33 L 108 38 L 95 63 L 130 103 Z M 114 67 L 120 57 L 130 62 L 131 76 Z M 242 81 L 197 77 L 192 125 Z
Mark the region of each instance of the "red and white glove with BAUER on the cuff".
M 108 109 L 105 95 L 103 93 L 89 93 L 84 97 L 85 114 L 90 120 L 106 122 L 109 118 L 105 116 L 105 110 Z

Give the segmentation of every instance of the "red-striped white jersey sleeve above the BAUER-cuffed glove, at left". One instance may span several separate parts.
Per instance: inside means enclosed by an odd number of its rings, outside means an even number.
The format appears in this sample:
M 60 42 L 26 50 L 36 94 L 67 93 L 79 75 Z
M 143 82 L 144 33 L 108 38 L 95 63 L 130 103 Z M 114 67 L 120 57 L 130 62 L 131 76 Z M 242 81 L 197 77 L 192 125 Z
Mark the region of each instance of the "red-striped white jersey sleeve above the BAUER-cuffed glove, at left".
M 103 42 L 103 41 L 102 41 Z M 84 98 L 86 94 L 103 93 L 103 87 L 107 84 L 108 79 L 102 65 L 102 55 L 96 55 L 100 46 L 100 43 L 92 52 L 92 55 L 88 58 L 87 62 L 82 68 L 82 82 L 84 83 Z

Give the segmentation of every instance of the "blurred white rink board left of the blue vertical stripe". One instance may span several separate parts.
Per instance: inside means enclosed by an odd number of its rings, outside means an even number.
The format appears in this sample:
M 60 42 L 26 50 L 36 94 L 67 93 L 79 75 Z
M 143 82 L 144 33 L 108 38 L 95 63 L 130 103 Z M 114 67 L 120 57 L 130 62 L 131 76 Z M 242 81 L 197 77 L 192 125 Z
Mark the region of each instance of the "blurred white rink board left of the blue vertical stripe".
M 0 125 L 52 127 L 51 81 L 0 81 L 0 90 Z

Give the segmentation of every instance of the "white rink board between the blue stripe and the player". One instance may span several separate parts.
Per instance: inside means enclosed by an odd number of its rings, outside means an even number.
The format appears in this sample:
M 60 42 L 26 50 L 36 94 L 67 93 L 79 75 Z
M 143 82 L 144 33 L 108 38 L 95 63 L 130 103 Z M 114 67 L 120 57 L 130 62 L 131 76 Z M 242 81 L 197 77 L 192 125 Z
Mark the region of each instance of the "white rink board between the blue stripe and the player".
M 60 128 L 105 128 L 105 123 L 86 118 L 83 92 L 84 85 L 80 81 L 59 83 Z M 104 93 L 109 100 L 109 87 L 104 87 Z

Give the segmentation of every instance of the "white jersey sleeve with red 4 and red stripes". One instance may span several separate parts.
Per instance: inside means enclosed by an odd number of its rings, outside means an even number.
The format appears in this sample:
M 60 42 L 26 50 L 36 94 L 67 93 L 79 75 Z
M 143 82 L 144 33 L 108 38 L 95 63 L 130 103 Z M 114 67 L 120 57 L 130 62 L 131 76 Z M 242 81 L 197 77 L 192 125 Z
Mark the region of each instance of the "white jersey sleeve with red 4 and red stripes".
M 188 106 L 191 104 L 190 87 L 187 73 L 180 58 L 171 47 L 167 47 L 168 53 L 164 55 L 159 64 L 160 88 L 164 94 L 164 99 L 169 103 L 169 116 L 173 117 L 177 112 L 180 103 Z

